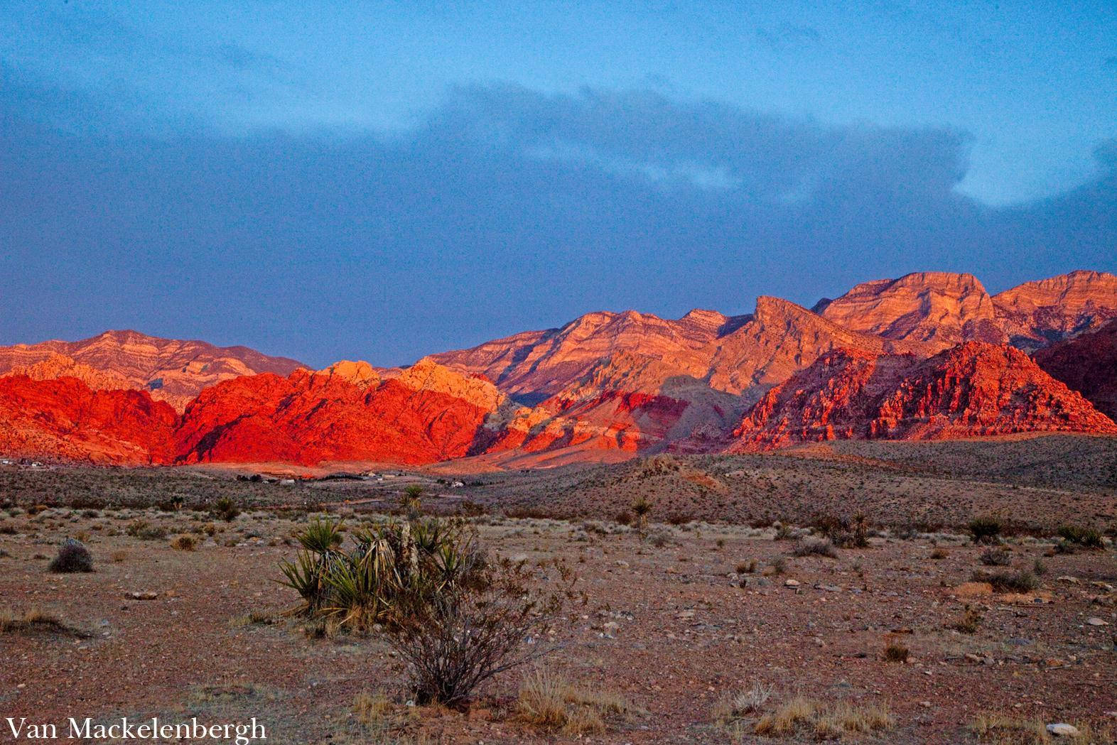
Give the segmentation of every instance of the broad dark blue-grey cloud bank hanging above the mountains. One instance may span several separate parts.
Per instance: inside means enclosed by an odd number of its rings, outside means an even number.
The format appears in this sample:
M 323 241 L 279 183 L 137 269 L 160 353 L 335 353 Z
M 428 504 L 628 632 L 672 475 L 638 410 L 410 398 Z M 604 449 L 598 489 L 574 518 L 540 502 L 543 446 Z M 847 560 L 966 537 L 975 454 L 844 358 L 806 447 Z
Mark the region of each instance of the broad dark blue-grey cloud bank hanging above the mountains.
M 951 130 L 488 86 L 394 135 L 94 136 L 66 134 L 67 112 L 97 112 L 65 94 L 0 95 L 3 343 L 133 326 L 397 363 L 602 307 L 1117 268 L 1111 169 L 992 209 L 956 193 L 968 139 Z

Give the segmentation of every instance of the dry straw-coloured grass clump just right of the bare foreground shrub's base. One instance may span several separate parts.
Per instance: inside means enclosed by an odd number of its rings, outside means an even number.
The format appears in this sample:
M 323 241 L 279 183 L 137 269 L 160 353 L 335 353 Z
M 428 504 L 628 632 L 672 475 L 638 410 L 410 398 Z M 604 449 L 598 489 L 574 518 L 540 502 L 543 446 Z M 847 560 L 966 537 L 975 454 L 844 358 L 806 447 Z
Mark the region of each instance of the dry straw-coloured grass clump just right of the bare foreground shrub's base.
M 540 729 L 567 735 L 608 732 L 636 715 L 624 698 L 575 686 L 545 668 L 524 677 L 516 699 L 516 718 Z

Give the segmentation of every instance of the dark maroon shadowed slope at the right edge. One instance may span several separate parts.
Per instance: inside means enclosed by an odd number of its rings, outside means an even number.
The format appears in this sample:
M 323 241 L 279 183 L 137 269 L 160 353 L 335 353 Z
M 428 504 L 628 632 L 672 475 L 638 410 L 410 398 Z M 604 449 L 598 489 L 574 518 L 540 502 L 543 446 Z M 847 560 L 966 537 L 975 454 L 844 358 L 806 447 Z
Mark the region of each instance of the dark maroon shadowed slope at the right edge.
M 1117 421 L 1117 321 L 1034 354 L 1048 374 Z

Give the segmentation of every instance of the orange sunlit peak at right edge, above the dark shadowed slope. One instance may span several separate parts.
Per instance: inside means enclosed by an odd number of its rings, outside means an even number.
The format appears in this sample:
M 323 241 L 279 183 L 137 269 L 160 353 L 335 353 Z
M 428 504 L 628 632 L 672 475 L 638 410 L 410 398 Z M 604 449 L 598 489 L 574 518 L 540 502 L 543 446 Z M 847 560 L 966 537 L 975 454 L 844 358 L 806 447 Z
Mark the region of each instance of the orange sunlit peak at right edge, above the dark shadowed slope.
M 999 293 L 993 305 L 1011 343 L 1032 351 L 1117 318 L 1117 276 L 1071 271 Z

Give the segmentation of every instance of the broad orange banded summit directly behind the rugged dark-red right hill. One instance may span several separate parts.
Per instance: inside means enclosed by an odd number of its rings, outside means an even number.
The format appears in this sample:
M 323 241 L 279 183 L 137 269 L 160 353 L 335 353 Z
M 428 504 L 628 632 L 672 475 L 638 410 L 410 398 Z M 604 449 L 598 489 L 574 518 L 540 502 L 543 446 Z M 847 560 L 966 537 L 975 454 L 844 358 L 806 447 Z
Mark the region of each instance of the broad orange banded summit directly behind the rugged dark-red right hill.
M 993 298 L 968 274 L 920 271 L 877 279 L 814 307 L 850 331 L 923 343 L 932 351 L 972 340 L 1006 341 L 995 323 Z

